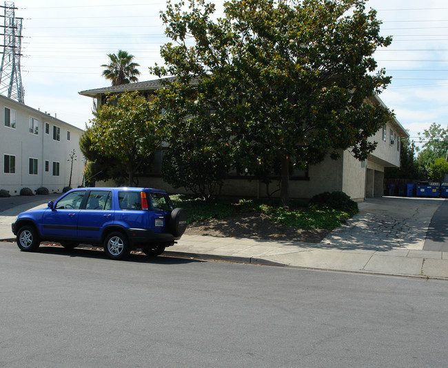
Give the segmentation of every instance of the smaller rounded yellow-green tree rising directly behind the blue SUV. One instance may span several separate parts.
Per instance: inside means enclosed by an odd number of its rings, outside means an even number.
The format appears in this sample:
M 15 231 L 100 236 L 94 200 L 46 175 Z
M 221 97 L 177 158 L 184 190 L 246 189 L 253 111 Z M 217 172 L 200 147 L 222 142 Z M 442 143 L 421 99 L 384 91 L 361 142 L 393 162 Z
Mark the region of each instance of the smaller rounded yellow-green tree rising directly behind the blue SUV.
M 161 132 L 156 128 L 159 118 L 154 103 L 138 92 L 111 95 L 91 120 L 90 149 L 123 164 L 128 186 L 133 186 L 134 175 L 161 146 Z

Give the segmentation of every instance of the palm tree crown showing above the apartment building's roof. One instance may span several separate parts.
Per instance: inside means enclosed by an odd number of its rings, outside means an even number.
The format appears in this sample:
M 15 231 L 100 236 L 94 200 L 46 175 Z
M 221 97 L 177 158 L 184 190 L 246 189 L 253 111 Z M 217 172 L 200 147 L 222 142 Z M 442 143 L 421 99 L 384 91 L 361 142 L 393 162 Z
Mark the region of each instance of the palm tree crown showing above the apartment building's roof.
M 112 85 L 123 85 L 125 83 L 138 82 L 136 76 L 140 75 L 140 64 L 132 63 L 134 55 L 128 54 L 127 51 L 119 50 L 118 54 L 108 54 L 110 63 L 101 65 L 106 69 L 101 74 L 106 79 L 112 80 Z

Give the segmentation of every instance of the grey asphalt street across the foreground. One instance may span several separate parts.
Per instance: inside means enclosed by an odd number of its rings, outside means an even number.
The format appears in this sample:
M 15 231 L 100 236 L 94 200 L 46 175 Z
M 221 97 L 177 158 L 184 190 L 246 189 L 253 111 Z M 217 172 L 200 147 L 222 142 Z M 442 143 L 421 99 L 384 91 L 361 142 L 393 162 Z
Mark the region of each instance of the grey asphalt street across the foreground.
M 447 290 L 0 243 L 0 367 L 446 367 Z

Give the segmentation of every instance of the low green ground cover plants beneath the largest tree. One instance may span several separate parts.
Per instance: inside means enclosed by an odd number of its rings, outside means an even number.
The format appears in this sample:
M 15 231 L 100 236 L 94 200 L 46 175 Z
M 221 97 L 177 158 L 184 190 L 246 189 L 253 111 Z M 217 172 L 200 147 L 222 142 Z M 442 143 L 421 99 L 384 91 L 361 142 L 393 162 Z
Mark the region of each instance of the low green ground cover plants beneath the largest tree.
M 241 213 L 258 213 L 283 226 L 332 230 L 358 213 L 356 202 L 340 193 L 325 194 L 327 201 L 319 199 L 309 204 L 291 201 L 289 206 L 279 206 L 276 199 L 203 199 L 187 195 L 172 195 L 171 198 L 174 206 L 187 211 L 189 224 Z

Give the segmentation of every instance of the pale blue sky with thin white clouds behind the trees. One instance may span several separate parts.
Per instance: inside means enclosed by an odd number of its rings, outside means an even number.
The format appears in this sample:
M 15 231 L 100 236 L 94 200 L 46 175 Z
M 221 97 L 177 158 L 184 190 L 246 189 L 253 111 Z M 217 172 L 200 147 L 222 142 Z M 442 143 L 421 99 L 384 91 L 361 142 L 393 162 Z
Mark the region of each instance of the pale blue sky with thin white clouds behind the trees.
M 215 1 L 218 8 L 223 0 Z M 92 100 L 85 89 L 106 87 L 101 64 L 106 54 L 126 50 L 141 65 L 140 80 L 153 77 L 148 67 L 162 64 L 159 47 L 167 42 L 159 18 L 163 0 L 22 0 L 21 76 L 25 103 L 72 125 L 85 127 Z M 411 137 L 432 122 L 448 125 L 448 3 L 446 0 L 369 0 L 378 10 L 382 33 L 391 46 L 376 52 L 392 83 L 380 95 Z M 415 138 L 417 140 L 417 138 Z

